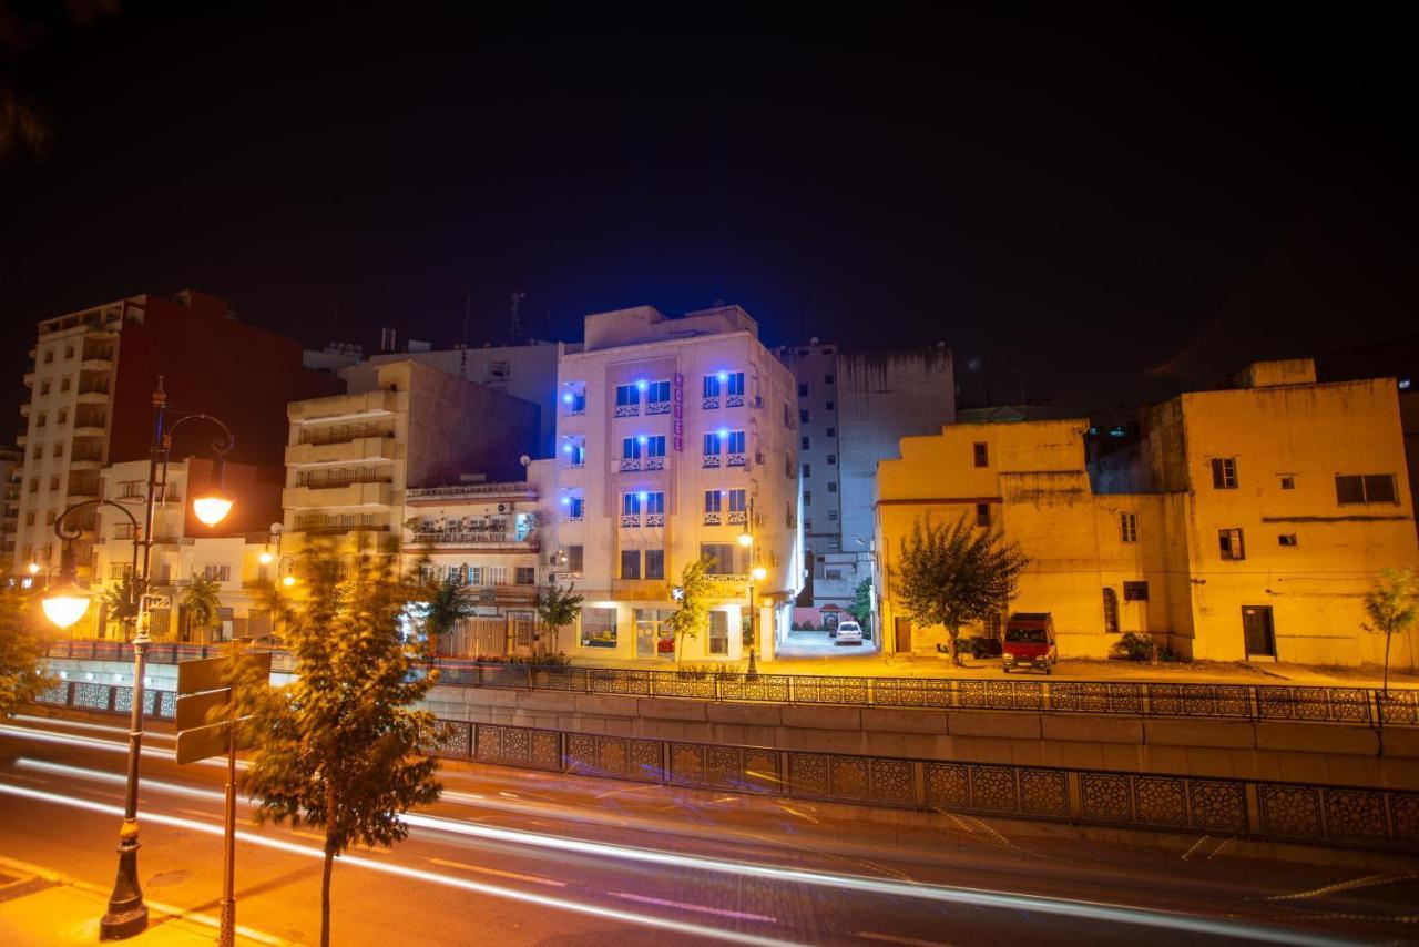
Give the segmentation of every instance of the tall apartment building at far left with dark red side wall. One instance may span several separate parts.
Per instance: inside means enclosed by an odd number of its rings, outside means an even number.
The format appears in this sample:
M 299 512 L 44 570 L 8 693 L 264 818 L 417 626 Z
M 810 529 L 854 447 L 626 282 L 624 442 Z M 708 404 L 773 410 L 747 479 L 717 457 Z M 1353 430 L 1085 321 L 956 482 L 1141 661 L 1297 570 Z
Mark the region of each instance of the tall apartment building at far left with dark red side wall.
M 57 566 L 55 518 L 99 498 L 105 464 L 148 457 L 159 375 L 175 410 L 221 417 L 237 437 L 230 460 L 258 466 L 282 463 L 287 402 L 339 389 L 338 379 L 301 365 L 298 342 L 243 325 L 224 300 L 192 290 L 43 319 L 30 358 L 13 552 L 20 566 Z M 175 449 L 199 451 L 210 440 L 210 429 L 192 426 Z M 89 578 L 96 518 L 87 511 L 71 521 L 82 530 L 79 576 Z

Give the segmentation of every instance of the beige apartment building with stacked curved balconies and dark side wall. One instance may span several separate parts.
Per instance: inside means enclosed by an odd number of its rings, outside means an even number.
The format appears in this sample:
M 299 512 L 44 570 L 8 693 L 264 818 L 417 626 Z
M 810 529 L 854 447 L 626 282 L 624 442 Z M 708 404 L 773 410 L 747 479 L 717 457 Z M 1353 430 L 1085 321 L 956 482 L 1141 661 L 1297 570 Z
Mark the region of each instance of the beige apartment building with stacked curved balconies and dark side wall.
M 539 409 L 512 395 L 407 359 L 342 378 L 345 395 L 288 406 L 282 552 L 397 552 L 407 490 L 468 470 L 514 480 L 536 450 Z

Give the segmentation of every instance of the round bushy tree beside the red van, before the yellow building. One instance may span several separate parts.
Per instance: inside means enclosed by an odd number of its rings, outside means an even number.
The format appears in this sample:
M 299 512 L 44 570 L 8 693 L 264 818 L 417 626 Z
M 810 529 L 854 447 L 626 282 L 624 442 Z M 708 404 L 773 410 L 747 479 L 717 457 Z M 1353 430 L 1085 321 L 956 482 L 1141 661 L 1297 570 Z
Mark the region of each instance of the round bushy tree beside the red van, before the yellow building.
M 1029 558 L 995 530 L 979 530 L 962 517 L 954 527 L 928 514 L 901 541 L 895 592 L 918 625 L 942 625 L 951 657 L 961 666 L 961 626 L 999 615 L 1010 605 Z

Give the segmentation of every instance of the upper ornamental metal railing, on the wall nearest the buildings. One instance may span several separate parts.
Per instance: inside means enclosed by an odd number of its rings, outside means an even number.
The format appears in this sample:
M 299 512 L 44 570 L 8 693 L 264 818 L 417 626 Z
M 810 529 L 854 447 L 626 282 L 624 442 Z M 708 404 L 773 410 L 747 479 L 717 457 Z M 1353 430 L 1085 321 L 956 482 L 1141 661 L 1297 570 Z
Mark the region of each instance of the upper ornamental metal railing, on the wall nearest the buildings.
M 715 576 L 748 581 L 748 576 Z M 528 589 L 535 586 L 498 586 Z M 148 660 L 167 663 L 166 649 L 199 645 L 152 645 Z M 216 646 L 209 646 L 216 647 Z M 129 660 L 121 642 L 55 642 L 51 657 Z M 200 655 L 193 655 L 200 656 Z M 1419 690 L 1301 687 L 1293 684 L 1178 684 L 1135 681 L 965 680 L 956 677 L 833 677 L 826 674 L 683 673 L 620 667 L 548 667 L 440 659 L 438 680 L 463 687 L 558 690 L 627 697 L 684 697 L 736 703 L 832 704 L 925 710 L 1020 710 L 1033 713 L 1131 717 L 1203 717 L 1257 723 L 1338 723 L 1419 727 Z M 1381 707 L 1382 706 L 1382 707 Z

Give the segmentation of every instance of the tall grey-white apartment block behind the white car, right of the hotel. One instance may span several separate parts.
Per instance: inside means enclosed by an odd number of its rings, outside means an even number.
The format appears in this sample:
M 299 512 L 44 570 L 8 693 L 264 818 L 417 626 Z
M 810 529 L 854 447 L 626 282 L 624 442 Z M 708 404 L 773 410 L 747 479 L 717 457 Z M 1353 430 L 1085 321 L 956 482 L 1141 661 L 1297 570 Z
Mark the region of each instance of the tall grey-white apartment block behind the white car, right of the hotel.
M 877 461 L 902 437 L 955 420 L 952 354 L 925 349 L 844 352 L 813 339 L 779 349 L 797 385 L 803 469 L 803 542 L 809 576 L 800 618 L 846 608 L 871 575 Z

